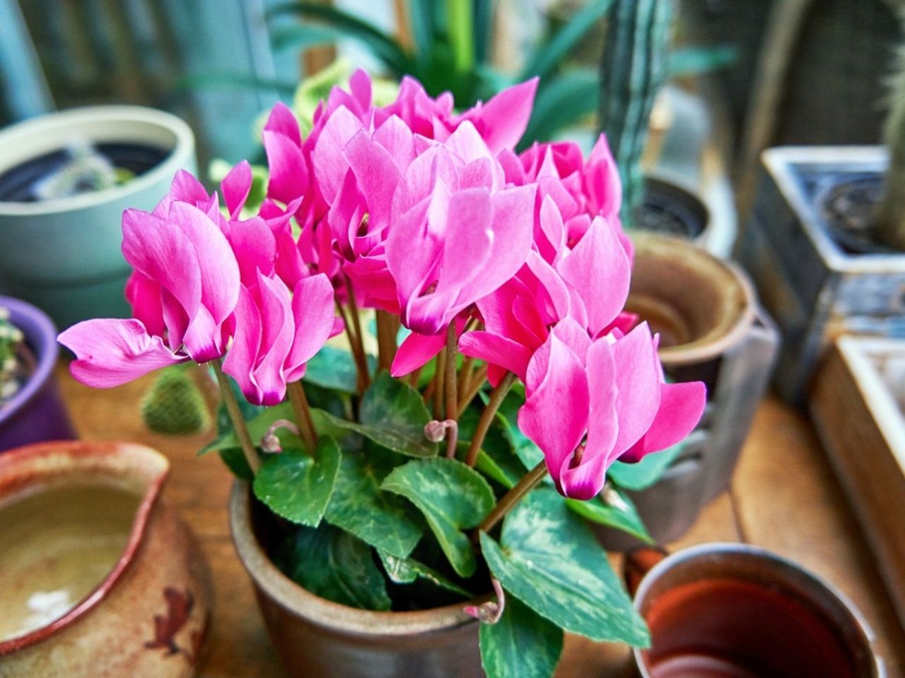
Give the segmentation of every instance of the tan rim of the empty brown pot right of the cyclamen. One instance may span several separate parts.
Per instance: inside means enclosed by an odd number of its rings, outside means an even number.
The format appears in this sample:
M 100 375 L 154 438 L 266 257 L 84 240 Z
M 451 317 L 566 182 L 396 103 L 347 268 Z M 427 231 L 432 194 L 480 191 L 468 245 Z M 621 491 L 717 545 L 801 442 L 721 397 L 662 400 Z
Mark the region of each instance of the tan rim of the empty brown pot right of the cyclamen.
M 721 297 L 734 296 L 740 301 L 735 314 L 721 318 L 719 324 L 704 336 L 687 344 L 661 348 L 660 359 L 665 366 L 681 367 L 708 362 L 744 339 L 757 319 L 757 294 L 750 279 L 738 264 L 718 259 L 688 240 L 661 233 L 634 231 L 632 240 L 635 245 L 635 256 L 647 248 L 652 250 L 652 253 L 655 252 L 654 256 L 691 259 L 696 270 L 710 271 L 712 275 L 719 276 Z

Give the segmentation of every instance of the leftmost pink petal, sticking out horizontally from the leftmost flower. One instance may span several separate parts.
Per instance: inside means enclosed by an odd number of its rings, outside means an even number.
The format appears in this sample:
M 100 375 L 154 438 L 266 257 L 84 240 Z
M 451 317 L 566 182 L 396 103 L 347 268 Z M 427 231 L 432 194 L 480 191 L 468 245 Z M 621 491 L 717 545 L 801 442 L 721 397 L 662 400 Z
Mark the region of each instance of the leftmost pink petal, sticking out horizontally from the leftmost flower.
M 72 325 L 57 339 L 75 353 L 69 368 L 72 376 L 96 389 L 119 386 L 186 361 L 170 351 L 160 337 L 149 335 L 135 319 L 86 320 Z

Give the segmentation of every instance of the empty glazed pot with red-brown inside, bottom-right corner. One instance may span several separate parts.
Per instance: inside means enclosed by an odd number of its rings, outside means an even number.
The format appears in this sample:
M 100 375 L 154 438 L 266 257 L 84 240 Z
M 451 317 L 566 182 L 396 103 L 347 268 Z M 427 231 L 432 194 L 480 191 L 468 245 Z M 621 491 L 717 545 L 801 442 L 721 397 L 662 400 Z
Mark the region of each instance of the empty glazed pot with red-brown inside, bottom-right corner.
M 627 559 L 630 589 L 637 584 L 631 575 L 651 562 Z M 885 675 L 872 632 L 852 603 L 769 551 L 701 544 L 656 562 L 636 588 L 634 607 L 652 638 L 649 649 L 633 650 L 642 678 Z

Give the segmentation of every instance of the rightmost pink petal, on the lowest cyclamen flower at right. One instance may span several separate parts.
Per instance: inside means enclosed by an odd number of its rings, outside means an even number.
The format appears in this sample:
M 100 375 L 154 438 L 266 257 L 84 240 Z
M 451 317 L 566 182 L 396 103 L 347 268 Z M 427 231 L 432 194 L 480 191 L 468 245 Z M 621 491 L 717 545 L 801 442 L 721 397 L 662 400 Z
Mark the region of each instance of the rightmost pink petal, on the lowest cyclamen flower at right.
M 688 436 L 704 413 L 706 391 L 701 381 L 662 383 L 660 409 L 651 428 L 619 457 L 619 461 L 641 461 L 645 455 L 672 447 Z

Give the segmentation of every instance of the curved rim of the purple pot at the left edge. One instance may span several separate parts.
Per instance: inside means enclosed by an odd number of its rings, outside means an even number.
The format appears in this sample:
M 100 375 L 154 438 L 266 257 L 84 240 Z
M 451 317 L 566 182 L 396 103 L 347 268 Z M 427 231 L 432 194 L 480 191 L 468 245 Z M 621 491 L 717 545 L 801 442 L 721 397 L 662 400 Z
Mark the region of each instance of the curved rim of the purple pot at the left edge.
M 3 426 L 24 410 L 43 391 L 44 385 L 52 380 L 60 346 L 56 343 L 56 325 L 40 308 L 15 297 L 0 297 L 0 306 L 9 309 L 10 321 L 22 330 L 25 343 L 33 350 L 38 363 L 22 389 L 12 400 L 0 406 L 0 426 Z

